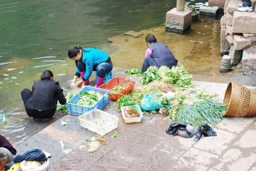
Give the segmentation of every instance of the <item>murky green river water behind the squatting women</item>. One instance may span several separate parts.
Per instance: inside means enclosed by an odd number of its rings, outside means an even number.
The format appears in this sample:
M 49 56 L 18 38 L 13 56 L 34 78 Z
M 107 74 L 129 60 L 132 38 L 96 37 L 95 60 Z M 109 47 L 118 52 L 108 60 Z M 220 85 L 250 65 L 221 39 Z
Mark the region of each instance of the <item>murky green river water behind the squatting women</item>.
M 65 90 L 70 89 L 68 81 L 72 79 L 75 68 L 73 61 L 67 58 L 69 47 L 101 47 L 113 56 L 114 67 L 131 68 L 130 63 L 126 65 L 118 60 L 118 56 L 112 55 L 118 47 L 109 45 L 107 38 L 129 30 L 140 31 L 159 26 L 164 23 L 166 12 L 175 7 L 175 2 L 1 0 L 0 108 L 5 108 L 9 113 L 9 127 L 5 127 L 3 134 L 13 133 L 12 127 L 18 125 L 17 132 L 22 136 L 17 139 L 27 136 L 26 126 L 22 122 L 26 115 L 20 92 L 24 88 L 31 88 L 43 70 L 52 70 L 55 80 Z M 199 1 L 193 1 L 192 4 L 196 2 Z M 145 48 L 145 44 L 142 43 L 141 47 Z M 56 58 L 34 59 L 44 56 Z M 140 66 L 143 58 L 142 55 L 133 59 L 133 62 Z

